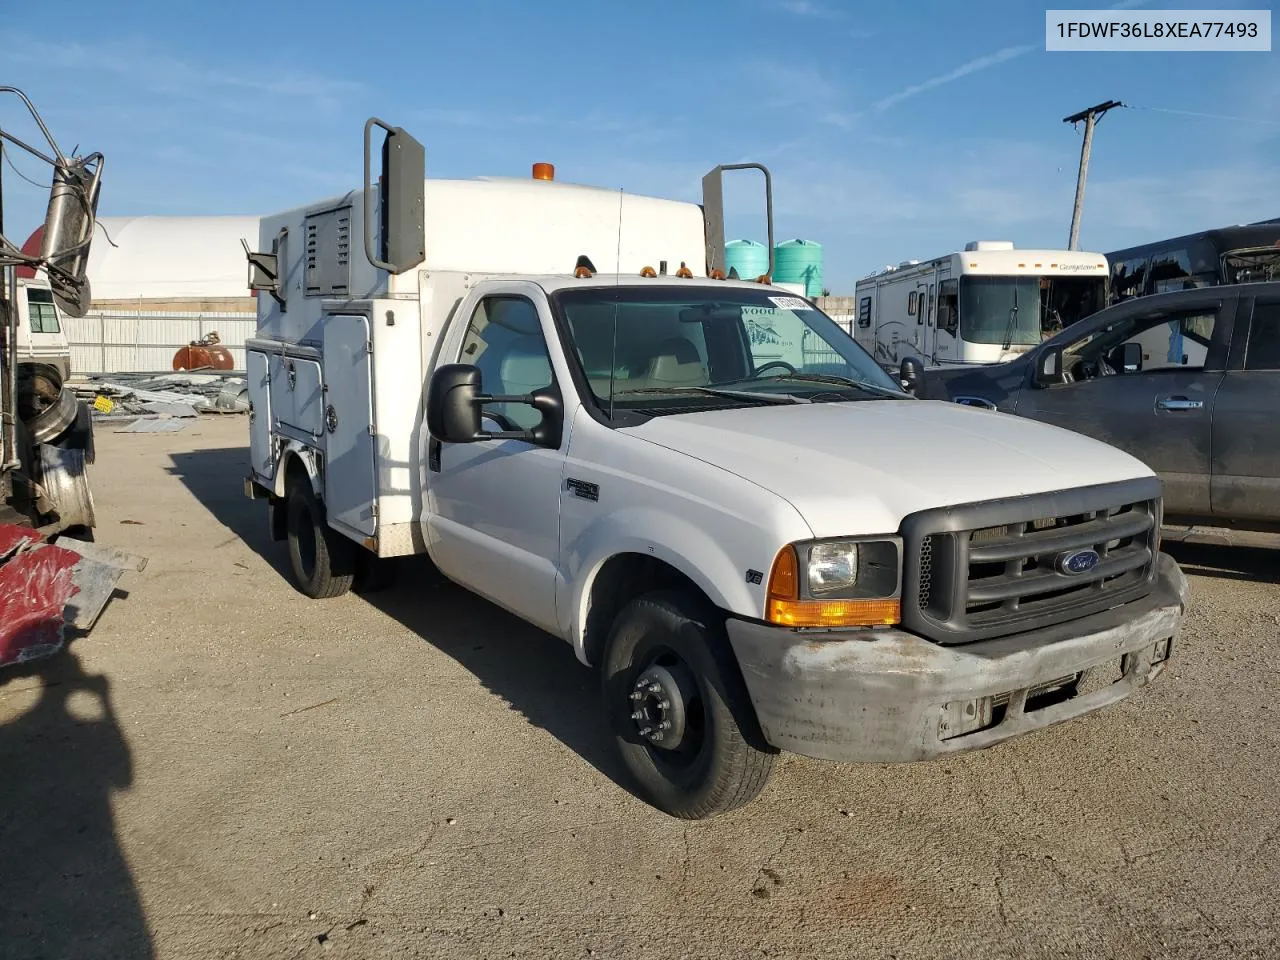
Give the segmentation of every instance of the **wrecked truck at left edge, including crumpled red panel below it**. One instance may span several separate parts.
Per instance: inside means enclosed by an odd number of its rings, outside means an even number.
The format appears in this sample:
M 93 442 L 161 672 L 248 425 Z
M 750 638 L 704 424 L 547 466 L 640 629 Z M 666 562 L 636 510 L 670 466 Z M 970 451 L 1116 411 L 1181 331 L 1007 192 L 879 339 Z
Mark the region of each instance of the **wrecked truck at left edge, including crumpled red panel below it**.
M 40 252 L 23 252 L 4 237 L 0 223 L 3 667 L 54 653 L 68 625 L 88 630 L 124 571 L 141 570 L 145 561 L 90 543 L 93 424 L 88 407 L 64 383 L 68 366 L 52 337 L 59 311 L 83 316 L 88 310 L 84 268 L 102 155 L 67 156 L 22 91 L 0 87 L 0 93 L 22 101 L 52 156 L 4 128 L 0 140 L 54 168 Z M 18 268 L 45 283 L 19 284 Z

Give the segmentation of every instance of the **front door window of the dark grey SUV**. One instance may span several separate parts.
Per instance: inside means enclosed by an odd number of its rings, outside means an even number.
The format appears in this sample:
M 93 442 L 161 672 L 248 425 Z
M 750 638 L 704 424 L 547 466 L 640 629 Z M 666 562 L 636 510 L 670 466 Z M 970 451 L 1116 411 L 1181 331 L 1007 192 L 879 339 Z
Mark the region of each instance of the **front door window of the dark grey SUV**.
M 1073 367 L 1083 365 L 1084 379 L 1097 375 L 1097 365 L 1107 369 L 1103 374 L 1123 374 L 1120 356 L 1125 343 L 1142 347 L 1142 371 L 1203 370 L 1208 361 L 1217 307 L 1129 316 L 1094 330 L 1066 347 L 1062 353 L 1065 370 L 1075 379 L 1080 372 Z

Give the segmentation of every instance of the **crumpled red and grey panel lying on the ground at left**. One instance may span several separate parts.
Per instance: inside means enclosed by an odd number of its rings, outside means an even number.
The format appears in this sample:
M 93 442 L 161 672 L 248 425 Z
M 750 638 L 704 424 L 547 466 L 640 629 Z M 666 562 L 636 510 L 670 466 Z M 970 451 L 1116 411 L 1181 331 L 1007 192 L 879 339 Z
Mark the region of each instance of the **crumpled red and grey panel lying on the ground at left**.
M 46 543 L 27 527 L 0 525 L 0 667 L 49 657 L 67 627 L 97 622 L 125 571 L 146 559 L 93 543 Z

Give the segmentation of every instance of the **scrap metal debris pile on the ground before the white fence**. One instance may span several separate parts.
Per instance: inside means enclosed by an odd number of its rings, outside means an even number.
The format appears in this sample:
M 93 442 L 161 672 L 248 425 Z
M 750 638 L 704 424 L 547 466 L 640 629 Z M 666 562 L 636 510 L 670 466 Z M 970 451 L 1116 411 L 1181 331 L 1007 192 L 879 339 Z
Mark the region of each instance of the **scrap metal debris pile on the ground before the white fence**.
M 248 384 L 227 374 L 108 374 L 73 379 L 68 387 L 86 401 L 96 421 L 166 421 L 200 413 L 247 413 Z M 175 431 L 182 426 L 116 433 Z

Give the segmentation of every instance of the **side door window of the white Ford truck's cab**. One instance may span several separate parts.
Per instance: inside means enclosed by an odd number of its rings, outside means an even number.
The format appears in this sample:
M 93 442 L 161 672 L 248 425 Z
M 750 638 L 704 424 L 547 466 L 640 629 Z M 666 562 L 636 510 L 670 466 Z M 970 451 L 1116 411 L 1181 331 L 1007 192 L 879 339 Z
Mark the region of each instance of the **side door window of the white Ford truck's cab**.
M 554 381 L 538 307 L 524 297 L 485 297 L 462 339 L 462 364 L 480 369 L 489 394 L 526 394 Z M 509 430 L 531 430 L 541 413 L 525 403 L 488 403 L 484 412 Z

